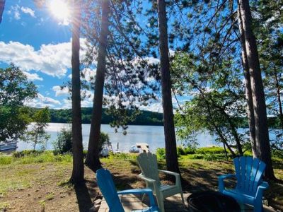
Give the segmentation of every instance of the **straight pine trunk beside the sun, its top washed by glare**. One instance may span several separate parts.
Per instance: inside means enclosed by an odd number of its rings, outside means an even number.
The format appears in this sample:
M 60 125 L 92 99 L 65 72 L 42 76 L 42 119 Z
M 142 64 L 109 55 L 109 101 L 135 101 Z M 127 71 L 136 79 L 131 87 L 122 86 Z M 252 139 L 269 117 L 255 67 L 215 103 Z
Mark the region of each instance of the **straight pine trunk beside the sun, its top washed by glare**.
M 72 109 L 72 148 L 73 171 L 70 182 L 83 182 L 83 139 L 81 132 L 81 82 L 80 82 L 80 1 L 73 1 L 72 40 L 71 40 L 71 109 Z

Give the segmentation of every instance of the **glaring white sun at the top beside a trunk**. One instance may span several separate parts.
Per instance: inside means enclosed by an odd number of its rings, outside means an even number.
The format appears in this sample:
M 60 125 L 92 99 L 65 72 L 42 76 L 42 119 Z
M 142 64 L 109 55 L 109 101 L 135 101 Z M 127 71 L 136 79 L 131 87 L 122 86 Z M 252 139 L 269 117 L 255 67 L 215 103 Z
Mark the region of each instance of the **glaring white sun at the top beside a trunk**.
M 70 8 L 66 0 L 50 0 L 49 8 L 52 15 L 62 23 L 69 22 Z

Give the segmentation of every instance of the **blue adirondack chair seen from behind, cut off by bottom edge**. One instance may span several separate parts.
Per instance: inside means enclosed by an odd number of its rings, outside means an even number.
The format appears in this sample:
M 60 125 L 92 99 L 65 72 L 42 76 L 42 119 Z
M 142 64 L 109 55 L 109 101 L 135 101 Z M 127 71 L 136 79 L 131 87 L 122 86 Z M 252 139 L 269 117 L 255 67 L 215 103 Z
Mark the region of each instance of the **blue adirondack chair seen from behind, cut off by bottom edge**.
M 105 169 L 100 169 L 96 172 L 96 180 L 98 182 L 98 187 L 109 206 L 110 212 L 124 212 L 124 208 L 122 207 L 118 194 L 147 194 L 149 195 L 149 208 L 136 211 L 159 211 L 155 204 L 154 195 L 152 194 L 151 189 L 129 189 L 117 192 L 110 172 Z

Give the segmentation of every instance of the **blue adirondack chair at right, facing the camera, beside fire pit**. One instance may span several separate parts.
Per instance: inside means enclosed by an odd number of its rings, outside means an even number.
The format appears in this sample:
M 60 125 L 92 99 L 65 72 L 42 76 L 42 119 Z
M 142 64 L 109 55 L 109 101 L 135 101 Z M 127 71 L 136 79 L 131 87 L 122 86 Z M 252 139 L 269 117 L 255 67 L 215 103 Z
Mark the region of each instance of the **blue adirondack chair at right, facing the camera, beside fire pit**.
M 219 192 L 232 196 L 242 204 L 254 206 L 255 212 L 262 211 L 262 193 L 268 188 L 268 183 L 262 181 L 265 163 L 258 158 L 245 157 L 233 160 L 236 175 L 221 175 L 219 177 Z M 225 189 L 224 179 L 236 177 L 235 189 Z

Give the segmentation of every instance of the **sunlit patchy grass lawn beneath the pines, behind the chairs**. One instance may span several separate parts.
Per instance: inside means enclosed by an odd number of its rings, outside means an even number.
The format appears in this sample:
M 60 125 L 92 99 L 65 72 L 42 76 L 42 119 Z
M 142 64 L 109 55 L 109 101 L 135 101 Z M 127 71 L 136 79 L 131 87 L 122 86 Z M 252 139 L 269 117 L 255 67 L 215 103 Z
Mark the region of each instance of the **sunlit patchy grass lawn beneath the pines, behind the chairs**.
M 103 158 L 103 167 L 113 175 L 117 189 L 141 188 L 145 184 L 135 155 L 121 154 Z M 164 168 L 165 161 L 159 161 Z M 217 177 L 233 172 L 231 162 L 225 160 L 192 160 L 180 157 L 183 190 L 196 192 L 217 189 Z M 283 179 L 283 162 L 274 160 L 275 173 Z M 88 211 L 99 192 L 95 175 L 85 168 L 86 182 L 79 187 L 68 184 L 71 176 L 71 156 L 45 152 L 23 158 L 0 155 L 0 211 Z M 166 181 L 166 177 L 162 176 Z M 271 206 L 283 206 L 283 185 L 270 183 L 265 193 Z

